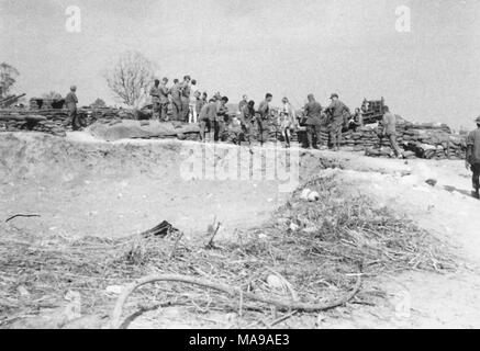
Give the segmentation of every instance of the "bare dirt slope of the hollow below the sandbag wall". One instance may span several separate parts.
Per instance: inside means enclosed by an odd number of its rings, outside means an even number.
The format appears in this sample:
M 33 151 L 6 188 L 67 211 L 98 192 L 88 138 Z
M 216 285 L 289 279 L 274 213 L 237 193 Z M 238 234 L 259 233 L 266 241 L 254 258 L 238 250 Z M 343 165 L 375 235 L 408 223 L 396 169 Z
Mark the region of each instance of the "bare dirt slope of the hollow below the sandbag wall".
M 261 224 L 288 199 L 279 186 L 284 181 L 267 174 L 266 158 L 232 145 L 2 134 L 0 212 L 40 214 L 15 224 L 75 236 L 125 236 L 164 219 L 189 236 L 215 217 L 233 233 Z M 236 161 L 249 174 L 232 174 L 228 162 Z M 322 162 L 302 157 L 300 181 Z

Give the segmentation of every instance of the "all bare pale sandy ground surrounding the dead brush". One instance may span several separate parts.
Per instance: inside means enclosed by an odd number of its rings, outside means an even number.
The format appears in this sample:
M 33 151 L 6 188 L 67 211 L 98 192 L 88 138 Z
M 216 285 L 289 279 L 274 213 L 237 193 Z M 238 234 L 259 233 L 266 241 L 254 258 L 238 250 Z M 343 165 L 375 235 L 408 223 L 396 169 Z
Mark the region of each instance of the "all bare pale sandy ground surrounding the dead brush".
M 219 152 L 237 150 L 216 148 Z M 235 230 L 260 225 L 288 199 L 289 193 L 280 190 L 281 181 L 268 177 L 187 177 L 191 172 L 183 167 L 196 150 L 196 143 L 176 140 L 107 144 L 83 133 L 69 134 L 67 139 L 2 134 L 0 213 L 5 218 L 38 214 L 15 218 L 10 225 L 68 236 L 126 236 L 166 219 L 188 239 L 203 236 L 216 217 L 223 224 L 221 239 L 228 240 Z M 459 269 L 444 275 L 384 276 L 376 283 L 387 291 L 387 298 L 376 306 L 348 305 L 315 318 L 293 316 L 278 327 L 480 327 L 480 202 L 469 195 L 470 173 L 464 162 L 405 162 L 295 148 L 291 152 L 300 157 L 300 181 L 321 172 L 335 173 L 353 194 L 370 196 L 440 238 L 457 256 Z M 248 157 L 248 152 L 242 155 L 242 160 Z M 221 156 L 217 161 L 222 165 Z M 426 184 L 427 179 L 435 179 L 436 185 Z M 235 327 L 232 314 L 212 313 L 202 320 L 188 317 L 185 308 L 169 307 L 145 314 L 131 327 Z

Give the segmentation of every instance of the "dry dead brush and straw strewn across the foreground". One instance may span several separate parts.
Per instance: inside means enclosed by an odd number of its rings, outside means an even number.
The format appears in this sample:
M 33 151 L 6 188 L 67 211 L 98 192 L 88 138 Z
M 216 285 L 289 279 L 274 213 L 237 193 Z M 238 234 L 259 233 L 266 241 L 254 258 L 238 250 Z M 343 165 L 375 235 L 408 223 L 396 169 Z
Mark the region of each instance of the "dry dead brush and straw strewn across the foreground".
M 300 200 L 299 189 L 269 223 L 242 230 L 241 240 L 222 247 L 205 247 L 204 237 L 188 244 L 176 236 L 72 240 L 5 228 L 0 236 L 0 326 L 58 304 L 68 291 L 81 294 L 83 314 L 109 314 L 114 297 L 104 293 L 107 286 L 149 274 L 181 274 L 211 283 L 146 285 L 125 306 L 127 312 L 136 312 L 138 304 L 172 301 L 198 314 L 237 312 L 238 327 L 245 327 L 269 310 L 271 272 L 289 284 L 284 302 L 303 306 L 342 299 L 359 274 L 371 279 L 404 270 L 455 269 L 439 240 L 406 218 L 376 208 L 368 199 L 345 197 L 334 178 L 317 178 L 304 186 L 317 191 L 320 200 Z M 211 290 L 214 282 L 232 290 Z M 19 295 L 19 285 L 30 292 L 27 298 Z M 252 294 L 260 301 L 244 299 Z

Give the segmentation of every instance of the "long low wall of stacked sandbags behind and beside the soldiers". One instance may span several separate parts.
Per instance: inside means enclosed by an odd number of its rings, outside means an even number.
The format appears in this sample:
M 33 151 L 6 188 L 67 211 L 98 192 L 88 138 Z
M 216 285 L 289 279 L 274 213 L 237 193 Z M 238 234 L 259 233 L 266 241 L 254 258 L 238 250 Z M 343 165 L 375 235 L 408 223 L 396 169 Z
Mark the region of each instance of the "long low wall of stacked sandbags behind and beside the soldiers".
M 65 109 L 0 110 L 0 132 L 42 132 L 56 136 L 66 136 L 71 131 L 71 123 Z M 125 138 L 177 138 L 181 140 L 199 140 L 200 129 L 197 124 L 185 124 L 177 121 L 158 122 L 147 120 L 148 111 L 126 109 L 79 109 L 78 113 L 88 132 L 94 137 L 114 141 Z M 264 123 L 264 143 L 277 143 L 282 139 L 281 128 L 276 118 Z M 341 145 L 345 150 L 364 151 L 367 156 L 390 157 L 392 150 L 389 140 L 382 138 L 377 124 L 348 129 L 343 133 Z M 242 128 L 230 124 L 221 139 L 226 143 L 243 140 Z M 398 118 L 397 137 L 404 150 L 405 158 L 424 159 L 465 159 L 466 136 L 454 134 L 446 124 L 411 123 Z M 258 134 L 256 134 L 258 135 Z M 319 133 L 320 145 L 328 145 L 328 128 Z M 258 139 L 258 137 L 257 137 Z M 291 141 L 300 145 L 305 141 L 303 127 L 293 131 Z M 260 140 L 256 140 L 260 141 Z

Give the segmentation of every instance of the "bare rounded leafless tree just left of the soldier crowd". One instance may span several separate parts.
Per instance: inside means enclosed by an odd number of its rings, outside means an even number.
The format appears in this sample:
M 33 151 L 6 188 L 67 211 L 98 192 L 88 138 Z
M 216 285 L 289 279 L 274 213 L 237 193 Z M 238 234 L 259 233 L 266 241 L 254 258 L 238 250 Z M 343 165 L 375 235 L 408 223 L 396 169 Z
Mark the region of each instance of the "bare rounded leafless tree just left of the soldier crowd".
M 107 84 L 129 106 L 138 107 L 154 80 L 155 64 L 137 52 L 124 53 L 105 72 Z

